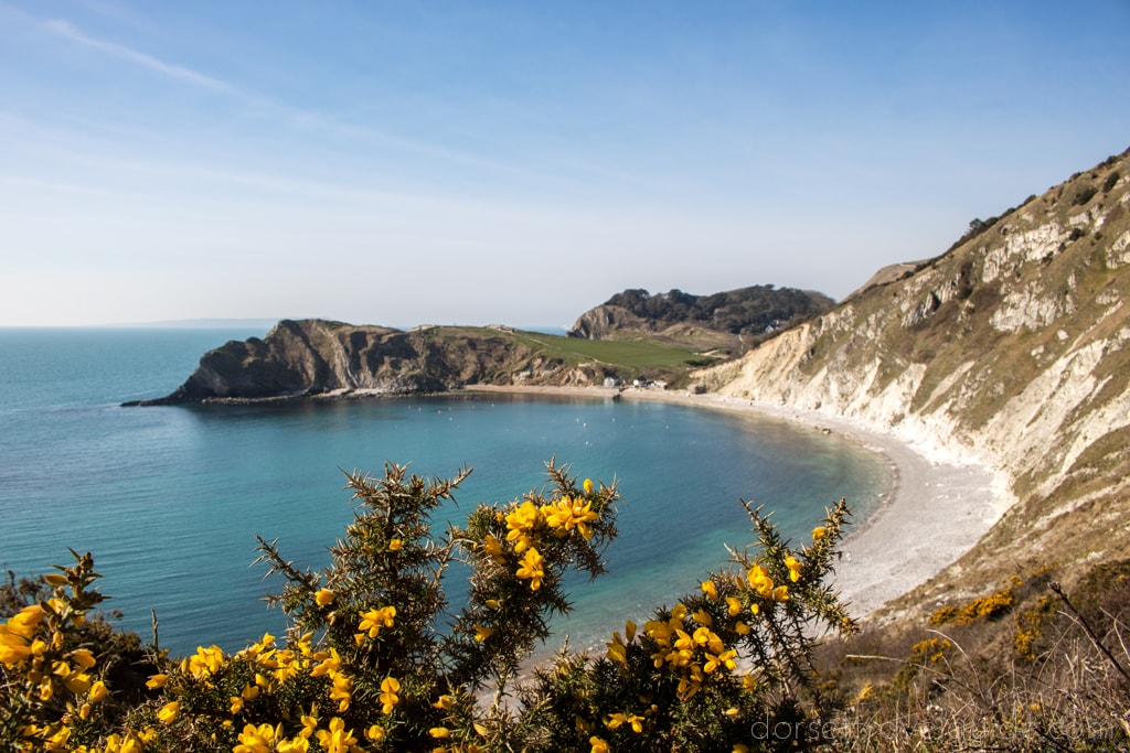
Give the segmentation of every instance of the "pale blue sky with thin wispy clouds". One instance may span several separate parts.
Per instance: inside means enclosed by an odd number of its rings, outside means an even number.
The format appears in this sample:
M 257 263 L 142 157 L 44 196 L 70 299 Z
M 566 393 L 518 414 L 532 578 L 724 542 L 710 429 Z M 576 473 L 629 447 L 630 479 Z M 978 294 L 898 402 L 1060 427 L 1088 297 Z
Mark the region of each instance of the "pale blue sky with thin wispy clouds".
M 1130 3 L 0 0 L 0 325 L 842 297 L 1130 146 Z

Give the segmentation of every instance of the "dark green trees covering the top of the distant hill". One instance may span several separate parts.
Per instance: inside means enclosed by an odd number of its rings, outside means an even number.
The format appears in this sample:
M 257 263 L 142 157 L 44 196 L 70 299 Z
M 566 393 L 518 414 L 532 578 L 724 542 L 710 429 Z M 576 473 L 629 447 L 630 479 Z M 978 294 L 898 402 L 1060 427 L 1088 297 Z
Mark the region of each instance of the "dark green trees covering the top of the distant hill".
M 620 306 L 660 324 L 696 322 L 732 334 L 759 334 L 796 317 L 826 312 L 835 301 L 809 290 L 757 284 L 710 296 L 679 289 L 651 295 L 636 288 L 616 294 L 605 305 Z

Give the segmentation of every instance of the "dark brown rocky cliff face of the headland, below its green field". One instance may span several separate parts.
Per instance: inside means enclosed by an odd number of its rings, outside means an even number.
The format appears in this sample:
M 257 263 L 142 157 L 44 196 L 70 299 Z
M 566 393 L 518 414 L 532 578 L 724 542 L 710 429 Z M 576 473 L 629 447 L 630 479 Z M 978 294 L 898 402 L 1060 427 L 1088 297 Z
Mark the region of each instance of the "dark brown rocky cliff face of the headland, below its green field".
M 284 319 L 262 340 L 209 351 L 173 394 L 146 404 L 415 394 L 467 384 L 588 385 L 598 378 L 594 369 L 546 358 L 487 329 L 405 332 Z

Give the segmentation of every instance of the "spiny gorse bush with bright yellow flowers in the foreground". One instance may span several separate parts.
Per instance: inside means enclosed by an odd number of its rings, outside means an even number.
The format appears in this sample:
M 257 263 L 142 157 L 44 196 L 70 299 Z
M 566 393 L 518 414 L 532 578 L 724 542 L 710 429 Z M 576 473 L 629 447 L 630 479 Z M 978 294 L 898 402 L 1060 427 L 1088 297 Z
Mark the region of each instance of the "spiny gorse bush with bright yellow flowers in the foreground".
M 3 750 L 729 753 L 781 743 L 755 734 L 759 725 L 803 744 L 816 636 L 855 629 L 825 583 L 845 502 L 796 548 L 747 505 L 757 543 L 731 552 L 728 568 L 638 625 L 628 620 L 603 655 L 563 650 L 516 682 L 551 618 L 570 611 L 563 576 L 601 575 L 617 533 L 615 484 L 547 467 L 545 491 L 479 505 L 442 533 L 432 513 L 469 471 L 347 474 L 357 509 L 324 569 L 297 568 L 259 540 L 282 578 L 269 599 L 289 627 L 235 654 L 144 654 L 92 612 L 103 597 L 89 554 L 41 587 L 12 581 L 0 624 Z M 457 563 L 469 575 L 453 610 L 445 575 Z

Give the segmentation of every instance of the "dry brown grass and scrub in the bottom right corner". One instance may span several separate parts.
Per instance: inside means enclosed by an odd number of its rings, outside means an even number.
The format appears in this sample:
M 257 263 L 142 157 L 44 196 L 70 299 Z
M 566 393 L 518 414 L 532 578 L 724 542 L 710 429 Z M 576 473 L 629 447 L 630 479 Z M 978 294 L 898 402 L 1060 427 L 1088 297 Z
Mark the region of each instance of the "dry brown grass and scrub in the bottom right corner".
M 1008 610 L 967 624 L 825 647 L 822 750 L 1130 750 L 1130 562 L 1072 593 L 1057 575 L 1027 573 Z

